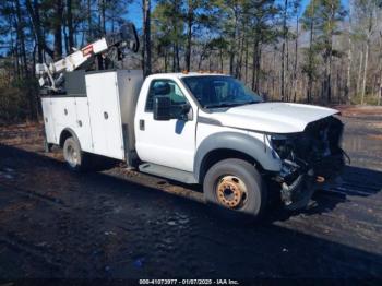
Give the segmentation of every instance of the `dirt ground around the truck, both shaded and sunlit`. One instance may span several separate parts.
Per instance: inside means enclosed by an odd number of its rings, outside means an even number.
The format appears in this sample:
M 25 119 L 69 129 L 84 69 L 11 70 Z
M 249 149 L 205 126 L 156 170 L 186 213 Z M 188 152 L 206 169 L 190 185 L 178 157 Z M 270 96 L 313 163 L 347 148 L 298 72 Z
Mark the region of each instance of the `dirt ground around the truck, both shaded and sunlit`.
M 40 126 L 0 128 L 0 281 L 382 279 L 382 108 L 338 108 L 351 158 L 338 186 L 250 226 L 212 215 L 198 188 L 73 174 Z

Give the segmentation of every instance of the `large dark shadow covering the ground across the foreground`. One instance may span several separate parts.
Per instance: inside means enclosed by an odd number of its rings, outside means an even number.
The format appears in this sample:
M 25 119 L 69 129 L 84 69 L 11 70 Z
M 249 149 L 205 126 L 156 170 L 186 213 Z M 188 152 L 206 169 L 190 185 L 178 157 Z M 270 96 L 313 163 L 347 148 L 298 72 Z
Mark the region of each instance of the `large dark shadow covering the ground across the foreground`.
M 227 224 L 192 200 L 107 174 L 72 174 L 58 160 L 0 145 L 0 169 L 5 168 L 15 180 L 0 179 L 2 205 L 17 200 L 7 199 L 16 193 L 27 194 L 19 200 L 44 200 L 27 210 L 28 219 L 19 208 L 12 219 L 1 221 L 7 223 L 0 241 L 10 246 L 0 253 L 3 278 L 23 277 L 25 269 L 33 277 L 381 278 L 380 246 L 371 251 L 370 241 L 341 229 L 341 219 L 327 225 L 330 237 L 323 236 L 320 218 L 310 216 L 293 222 L 274 217 L 255 226 Z M 365 172 L 375 183 L 370 195 L 381 187 L 379 172 L 348 171 Z M 353 179 L 360 186 L 366 181 Z M 338 203 L 335 199 L 325 196 L 326 206 L 318 207 L 327 212 Z M 36 237 L 49 248 L 27 251 Z

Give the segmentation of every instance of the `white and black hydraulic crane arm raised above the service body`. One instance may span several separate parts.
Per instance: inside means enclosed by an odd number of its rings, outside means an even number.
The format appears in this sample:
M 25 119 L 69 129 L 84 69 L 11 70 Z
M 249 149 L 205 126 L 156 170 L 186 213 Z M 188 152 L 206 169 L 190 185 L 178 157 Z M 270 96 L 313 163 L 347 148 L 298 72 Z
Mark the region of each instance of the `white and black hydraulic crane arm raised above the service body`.
M 140 47 L 135 26 L 131 23 L 121 26 L 120 31 L 107 35 L 84 48 L 74 51 L 65 58 L 52 62 L 36 64 L 36 74 L 39 76 L 40 87 L 51 92 L 59 92 L 64 81 L 64 72 L 81 69 L 84 63 L 93 60 L 96 56 L 106 55 L 111 49 L 117 49 L 118 58 L 121 59 L 124 50 L 138 52 Z

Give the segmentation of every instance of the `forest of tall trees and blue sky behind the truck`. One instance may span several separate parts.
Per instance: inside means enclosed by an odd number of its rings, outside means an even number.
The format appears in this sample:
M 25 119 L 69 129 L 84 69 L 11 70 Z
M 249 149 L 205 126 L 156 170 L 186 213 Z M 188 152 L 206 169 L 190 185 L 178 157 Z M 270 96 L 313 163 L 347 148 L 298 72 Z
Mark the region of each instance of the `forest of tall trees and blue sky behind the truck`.
M 266 100 L 382 104 L 382 0 L 3 0 L 0 123 L 37 120 L 37 62 L 127 21 L 141 50 L 123 68 L 213 71 Z

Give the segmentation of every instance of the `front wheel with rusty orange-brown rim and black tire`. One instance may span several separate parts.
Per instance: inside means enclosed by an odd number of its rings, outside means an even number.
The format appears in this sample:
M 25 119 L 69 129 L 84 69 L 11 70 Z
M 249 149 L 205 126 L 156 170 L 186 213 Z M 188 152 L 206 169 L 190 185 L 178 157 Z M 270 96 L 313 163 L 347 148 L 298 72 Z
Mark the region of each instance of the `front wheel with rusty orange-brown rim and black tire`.
M 242 159 L 224 159 L 213 165 L 203 181 L 207 203 L 230 218 L 258 219 L 267 204 L 266 186 L 253 165 Z M 229 211 L 229 212 L 227 212 Z

